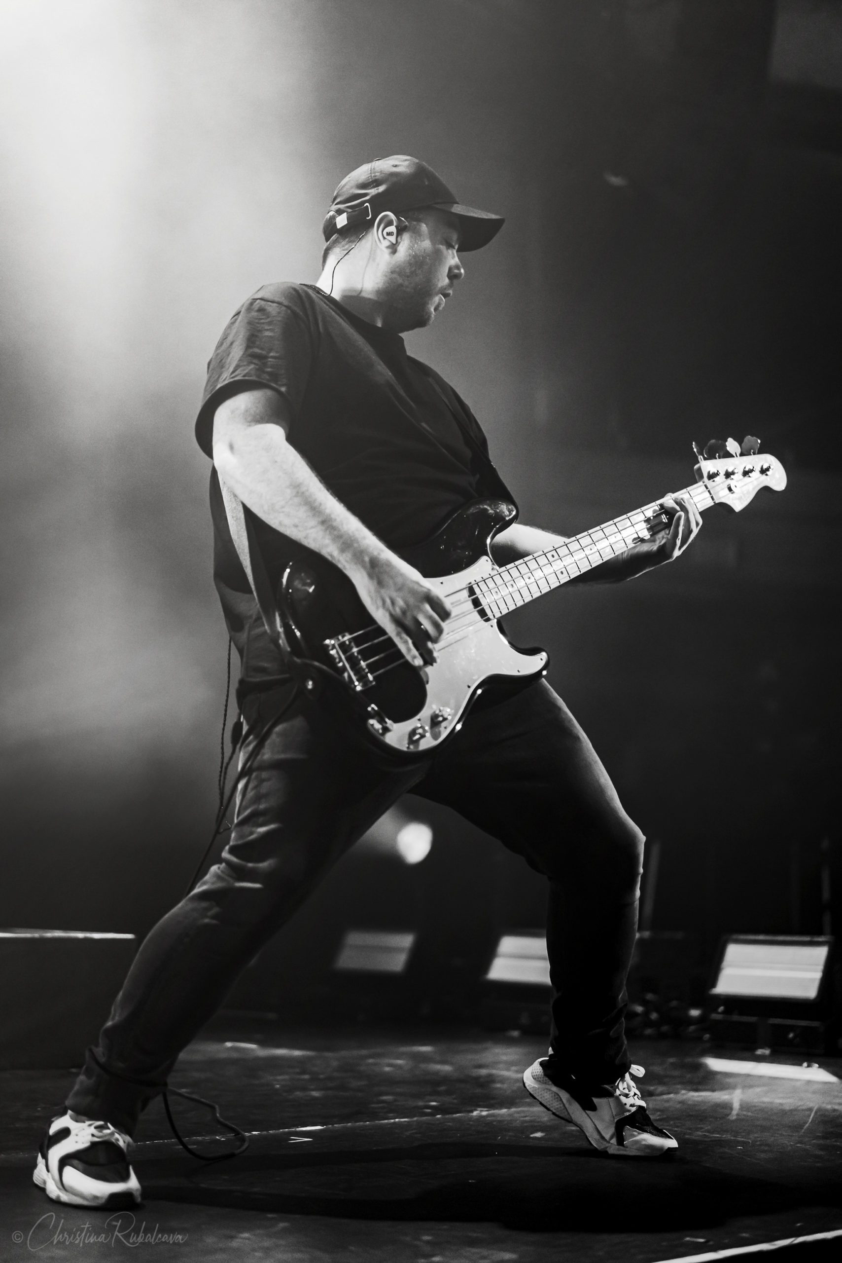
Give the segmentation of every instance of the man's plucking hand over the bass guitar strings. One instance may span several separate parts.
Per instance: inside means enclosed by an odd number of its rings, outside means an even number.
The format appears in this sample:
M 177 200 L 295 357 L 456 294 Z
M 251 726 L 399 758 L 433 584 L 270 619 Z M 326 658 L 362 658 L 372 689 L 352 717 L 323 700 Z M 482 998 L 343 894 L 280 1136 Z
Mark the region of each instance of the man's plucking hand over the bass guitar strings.
M 360 600 L 414 667 L 436 662 L 434 644 L 451 606 L 413 566 L 394 553 L 369 560 L 350 576 Z

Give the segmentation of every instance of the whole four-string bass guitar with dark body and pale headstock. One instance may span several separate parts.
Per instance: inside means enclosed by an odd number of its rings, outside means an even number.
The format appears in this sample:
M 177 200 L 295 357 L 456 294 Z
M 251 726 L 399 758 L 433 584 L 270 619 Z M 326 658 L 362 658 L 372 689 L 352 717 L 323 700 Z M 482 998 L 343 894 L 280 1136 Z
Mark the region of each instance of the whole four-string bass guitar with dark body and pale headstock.
M 691 495 L 698 509 L 722 504 L 738 512 L 761 488 L 780 491 L 786 485 L 780 461 L 751 451 L 742 455 L 733 440 L 716 448 L 727 455 L 709 460 L 694 448 L 697 482 L 678 494 Z M 432 539 L 403 554 L 452 609 L 436 644 L 438 661 L 424 668 L 412 666 L 372 623 L 351 580 L 331 562 L 312 554 L 284 572 L 278 610 L 289 650 L 302 664 L 317 664 L 319 674 L 331 677 L 338 686 L 332 692 L 375 745 L 395 755 L 424 754 L 458 731 L 483 690 L 502 682 L 511 688 L 543 676 L 547 653 L 515 648 L 499 619 L 667 528 L 655 501 L 545 552 L 497 566 L 491 541 L 515 515 L 502 500 L 476 500 Z

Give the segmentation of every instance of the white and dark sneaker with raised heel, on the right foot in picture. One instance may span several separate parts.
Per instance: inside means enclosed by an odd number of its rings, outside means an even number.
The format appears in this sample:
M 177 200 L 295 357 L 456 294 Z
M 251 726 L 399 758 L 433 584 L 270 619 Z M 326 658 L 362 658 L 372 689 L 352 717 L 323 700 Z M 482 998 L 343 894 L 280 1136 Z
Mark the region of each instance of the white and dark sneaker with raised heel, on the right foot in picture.
M 644 1074 L 643 1066 L 632 1066 L 616 1084 L 596 1089 L 583 1087 L 572 1075 L 555 1068 L 550 1079 L 545 1067 L 547 1058 L 530 1066 L 524 1072 L 524 1087 L 544 1109 L 581 1128 L 596 1149 L 654 1158 L 678 1148 L 678 1140 L 649 1118 L 646 1103 L 631 1081 L 631 1075 Z

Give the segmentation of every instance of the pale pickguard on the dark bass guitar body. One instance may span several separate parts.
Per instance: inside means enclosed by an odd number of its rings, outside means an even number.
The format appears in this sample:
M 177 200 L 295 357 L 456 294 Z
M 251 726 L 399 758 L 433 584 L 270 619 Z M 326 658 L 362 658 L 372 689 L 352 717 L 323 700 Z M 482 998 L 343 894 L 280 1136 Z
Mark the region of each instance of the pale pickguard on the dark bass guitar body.
M 444 597 L 462 591 L 468 584 L 491 575 L 497 567 L 490 557 L 482 557 L 458 575 L 444 578 L 428 578 Z M 443 642 L 447 640 L 448 624 L 444 624 Z M 477 687 L 489 676 L 538 676 L 545 667 L 545 653 L 524 654 L 514 649 L 497 630 L 495 621 L 472 624 L 466 634 L 454 635 L 452 644 L 437 648 L 438 662 L 424 668 L 427 679 L 427 701 L 423 709 L 412 719 L 396 722 L 386 733 L 377 735 L 386 745 L 405 751 L 433 749 L 443 738 L 460 727 L 467 705 Z M 434 722 L 437 711 L 447 711 L 447 719 Z M 424 730 L 422 733 L 422 729 Z

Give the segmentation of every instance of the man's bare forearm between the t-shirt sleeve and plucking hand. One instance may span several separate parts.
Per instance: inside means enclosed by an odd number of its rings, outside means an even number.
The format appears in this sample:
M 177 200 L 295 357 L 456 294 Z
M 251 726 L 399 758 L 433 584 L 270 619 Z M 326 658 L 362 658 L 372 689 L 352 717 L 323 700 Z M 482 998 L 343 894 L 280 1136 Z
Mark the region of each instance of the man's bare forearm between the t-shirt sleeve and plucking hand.
M 251 426 L 213 441 L 220 477 L 275 530 L 353 575 L 389 549 L 324 486 L 280 426 Z

